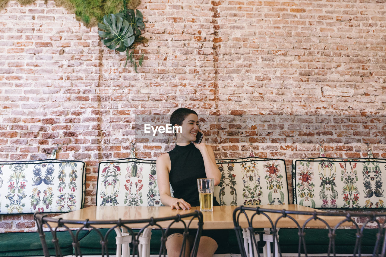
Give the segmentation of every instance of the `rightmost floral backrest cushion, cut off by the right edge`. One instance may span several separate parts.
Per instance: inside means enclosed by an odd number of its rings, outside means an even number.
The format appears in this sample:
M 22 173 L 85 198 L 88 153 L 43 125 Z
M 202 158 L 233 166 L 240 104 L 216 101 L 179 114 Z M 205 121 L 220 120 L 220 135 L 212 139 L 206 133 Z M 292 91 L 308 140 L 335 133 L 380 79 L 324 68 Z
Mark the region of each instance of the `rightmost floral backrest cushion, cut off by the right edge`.
M 386 160 L 294 159 L 294 203 L 312 208 L 385 208 Z

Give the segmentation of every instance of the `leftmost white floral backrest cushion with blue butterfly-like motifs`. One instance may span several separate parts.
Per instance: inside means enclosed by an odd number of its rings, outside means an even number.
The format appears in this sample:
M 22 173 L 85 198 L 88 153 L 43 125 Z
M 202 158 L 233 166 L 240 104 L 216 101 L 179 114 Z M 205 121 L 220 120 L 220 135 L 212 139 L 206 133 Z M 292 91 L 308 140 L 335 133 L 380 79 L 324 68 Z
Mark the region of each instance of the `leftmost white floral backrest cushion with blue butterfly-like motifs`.
M 83 161 L 0 162 L 0 213 L 79 210 L 85 198 L 85 172 Z

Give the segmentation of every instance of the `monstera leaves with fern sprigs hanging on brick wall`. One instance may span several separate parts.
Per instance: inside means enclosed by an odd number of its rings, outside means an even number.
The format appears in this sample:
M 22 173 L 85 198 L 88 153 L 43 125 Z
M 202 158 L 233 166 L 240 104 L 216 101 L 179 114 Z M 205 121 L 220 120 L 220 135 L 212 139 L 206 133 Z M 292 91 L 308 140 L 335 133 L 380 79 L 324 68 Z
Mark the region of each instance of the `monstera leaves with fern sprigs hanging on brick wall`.
M 139 58 L 138 64 L 134 58 L 134 47 L 139 42 L 146 42 L 147 39 L 141 37 L 141 29 L 145 28 L 143 15 L 139 10 L 127 8 L 126 1 L 124 9 L 117 14 L 106 14 L 103 16 L 103 24 L 98 23 L 98 35 L 102 38 L 102 43 L 109 49 L 119 52 L 126 51 L 127 61 L 134 67 L 137 72 L 138 65 L 142 66 L 144 54 Z

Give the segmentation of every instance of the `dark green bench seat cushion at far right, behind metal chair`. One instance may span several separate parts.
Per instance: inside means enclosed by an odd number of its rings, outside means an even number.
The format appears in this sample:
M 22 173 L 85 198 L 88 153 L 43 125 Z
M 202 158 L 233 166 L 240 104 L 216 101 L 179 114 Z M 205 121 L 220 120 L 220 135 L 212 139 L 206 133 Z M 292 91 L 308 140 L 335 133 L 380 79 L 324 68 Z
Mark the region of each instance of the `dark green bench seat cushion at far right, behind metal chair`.
M 356 229 L 350 228 L 336 230 L 335 250 L 337 254 L 352 254 L 354 252 L 356 231 Z M 372 254 L 377 232 L 378 229 L 364 229 L 361 247 L 363 254 Z M 308 254 L 327 253 L 329 242 L 327 229 L 308 228 L 305 233 Z M 278 235 L 281 252 L 298 252 L 298 229 L 281 228 Z M 301 253 L 304 253 L 303 249 Z

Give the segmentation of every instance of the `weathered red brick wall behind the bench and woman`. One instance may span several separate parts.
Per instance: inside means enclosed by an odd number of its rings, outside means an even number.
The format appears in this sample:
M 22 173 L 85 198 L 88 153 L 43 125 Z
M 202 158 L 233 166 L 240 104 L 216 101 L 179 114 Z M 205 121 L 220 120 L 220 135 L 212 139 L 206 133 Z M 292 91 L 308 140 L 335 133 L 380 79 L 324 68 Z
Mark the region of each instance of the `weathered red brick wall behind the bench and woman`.
M 96 27 L 54 2 L 8 3 L 0 12 L 2 161 L 45 159 L 55 148 L 59 159 L 86 161 L 93 205 L 97 164 L 129 157 L 135 115 L 178 107 L 220 115 L 206 124 L 218 158 L 248 156 L 252 143 L 259 157 L 285 159 L 288 178 L 291 159 L 317 156 L 318 142 L 333 157 L 366 157 L 369 142 L 386 158 L 383 1 L 142 0 L 138 8 L 149 43 L 138 47 L 146 57 L 135 73 L 101 45 Z M 263 114 L 313 120 L 291 129 L 238 116 Z M 326 125 L 315 115 L 349 118 Z M 172 147 L 138 142 L 137 157 Z M 0 232 L 33 227 L 32 215 L 0 218 Z

